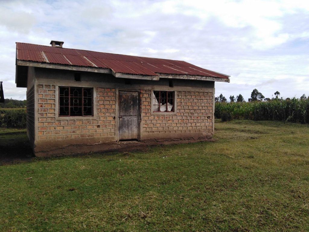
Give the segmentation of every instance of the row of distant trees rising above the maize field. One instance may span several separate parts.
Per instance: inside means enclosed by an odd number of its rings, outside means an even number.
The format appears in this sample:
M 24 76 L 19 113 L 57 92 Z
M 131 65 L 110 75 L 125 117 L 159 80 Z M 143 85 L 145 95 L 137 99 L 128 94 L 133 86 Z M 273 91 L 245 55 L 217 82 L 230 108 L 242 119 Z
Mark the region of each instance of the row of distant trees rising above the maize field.
M 276 91 L 274 93 L 275 97 L 272 97 L 271 99 L 268 97 L 264 97 L 264 95 L 259 92 L 256 88 L 253 89 L 252 93 L 251 93 L 251 97 L 248 98 L 248 101 L 271 101 L 273 99 L 279 99 L 280 96 L 280 92 Z M 282 97 L 281 97 L 282 99 Z M 300 99 L 307 99 L 307 96 L 305 94 L 303 94 Z M 290 100 L 290 98 L 286 98 L 286 100 Z M 234 95 L 230 96 L 230 102 L 244 102 L 244 98 L 241 94 L 237 95 L 236 98 L 234 97 Z M 223 96 L 223 94 L 221 93 L 219 97 L 215 97 L 215 102 L 227 102 L 226 97 Z

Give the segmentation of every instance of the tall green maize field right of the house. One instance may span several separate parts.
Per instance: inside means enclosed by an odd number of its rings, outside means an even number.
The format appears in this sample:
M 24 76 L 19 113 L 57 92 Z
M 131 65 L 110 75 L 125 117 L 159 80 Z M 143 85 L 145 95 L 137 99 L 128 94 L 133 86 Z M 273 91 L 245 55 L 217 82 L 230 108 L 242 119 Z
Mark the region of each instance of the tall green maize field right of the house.
M 215 118 L 221 118 L 224 113 L 229 114 L 231 119 L 309 123 L 309 98 L 254 102 L 216 102 Z

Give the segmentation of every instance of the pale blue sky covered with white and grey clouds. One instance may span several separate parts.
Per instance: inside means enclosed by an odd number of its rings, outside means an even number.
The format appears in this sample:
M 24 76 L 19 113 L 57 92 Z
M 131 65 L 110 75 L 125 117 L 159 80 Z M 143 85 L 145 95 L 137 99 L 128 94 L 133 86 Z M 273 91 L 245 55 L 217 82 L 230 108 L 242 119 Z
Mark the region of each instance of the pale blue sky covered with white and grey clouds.
M 15 84 L 15 42 L 184 60 L 230 75 L 215 96 L 253 89 L 272 98 L 309 95 L 309 1 L 0 0 L 0 81 Z M 50 45 L 49 45 L 50 46 Z

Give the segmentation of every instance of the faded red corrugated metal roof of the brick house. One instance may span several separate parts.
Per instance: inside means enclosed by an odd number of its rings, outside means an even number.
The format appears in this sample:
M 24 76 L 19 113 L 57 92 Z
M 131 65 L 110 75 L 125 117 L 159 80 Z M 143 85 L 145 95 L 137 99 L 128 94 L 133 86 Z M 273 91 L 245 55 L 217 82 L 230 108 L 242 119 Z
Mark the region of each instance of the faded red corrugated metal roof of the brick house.
M 228 75 L 178 60 L 111 54 L 27 43 L 16 43 L 16 50 L 17 60 L 109 68 L 115 73 L 147 76 L 158 76 L 160 73 L 163 73 L 229 78 Z

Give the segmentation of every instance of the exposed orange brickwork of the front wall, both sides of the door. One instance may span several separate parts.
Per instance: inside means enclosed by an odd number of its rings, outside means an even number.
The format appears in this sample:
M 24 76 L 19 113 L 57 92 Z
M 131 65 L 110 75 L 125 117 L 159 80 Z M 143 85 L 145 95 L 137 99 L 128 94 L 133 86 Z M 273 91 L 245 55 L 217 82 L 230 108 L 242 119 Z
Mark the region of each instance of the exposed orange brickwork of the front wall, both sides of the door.
M 94 116 L 59 117 L 58 86 L 36 85 L 37 141 L 116 141 L 116 88 L 94 88 Z M 213 135 L 213 92 L 175 91 L 175 112 L 151 112 L 152 90 L 141 90 L 141 139 Z M 97 140 L 94 140 L 97 139 Z

